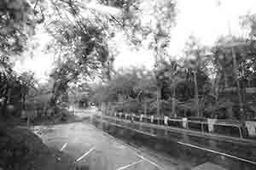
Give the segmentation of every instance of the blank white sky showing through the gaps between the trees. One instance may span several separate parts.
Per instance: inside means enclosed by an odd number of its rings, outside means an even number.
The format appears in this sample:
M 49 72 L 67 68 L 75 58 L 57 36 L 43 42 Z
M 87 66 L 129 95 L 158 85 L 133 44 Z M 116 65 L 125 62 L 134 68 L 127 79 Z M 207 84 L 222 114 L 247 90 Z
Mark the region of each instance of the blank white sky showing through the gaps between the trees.
M 90 5 L 90 8 L 98 8 Z M 102 11 L 111 11 L 111 8 L 103 8 Z M 113 13 L 118 13 L 113 9 Z M 183 55 L 185 42 L 190 35 L 197 37 L 202 44 L 211 46 L 218 37 L 232 34 L 244 36 L 246 31 L 241 30 L 240 16 L 244 14 L 256 14 L 255 0 L 178 0 L 177 1 L 177 25 L 172 28 L 172 37 L 168 52 L 180 57 Z M 49 40 L 44 32 L 38 33 L 40 46 Z M 116 69 L 129 67 L 131 65 L 144 65 L 146 68 L 153 68 L 154 57 L 150 50 L 141 48 L 132 50 L 125 37 L 121 34 L 115 38 L 118 44 L 119 54 L 114 61 Z M 32 59 L 24 59 L 16 70 L 35 71 L 36 77 L 42 82 L 53 65 L 53 56 L 44 54 L 43 49 L 37 51 Z

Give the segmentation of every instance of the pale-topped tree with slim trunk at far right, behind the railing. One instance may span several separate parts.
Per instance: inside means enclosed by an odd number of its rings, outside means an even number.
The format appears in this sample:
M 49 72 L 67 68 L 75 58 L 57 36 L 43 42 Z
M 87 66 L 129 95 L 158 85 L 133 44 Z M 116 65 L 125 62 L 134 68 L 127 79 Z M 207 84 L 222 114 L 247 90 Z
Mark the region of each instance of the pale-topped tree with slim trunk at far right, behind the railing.
M 218 65 L 217 68 L 220 74 L 224 75 L 224 88 L 228 89 L 230 83 L 234 83 L 234 85 L 236 84 L 238 103 L 243 118 L 245 116 L 243 99 L 245 94 L 243 94 L 241 83 L 244 83 L 244 81 L 240 80 L 237 73 L 240 71 L 241 77 L 244 77 L 244 64 L 246 63 L 244 58 L 247 54 L 247 49 L 245 47 L 247 47 L 247 44 L 244 40 L 229 36 L 219 39 L 218 44 L 213 51 L 215 63 Z M 230 74 L 228 74 L 228 72 L 230 72 Z M 231 77 L 232 82 L 227 80 L 227 76 Z

